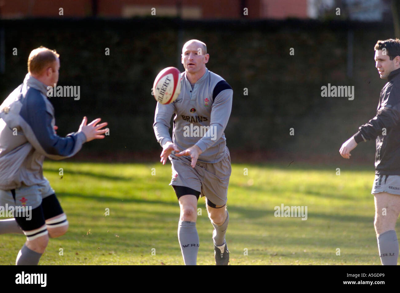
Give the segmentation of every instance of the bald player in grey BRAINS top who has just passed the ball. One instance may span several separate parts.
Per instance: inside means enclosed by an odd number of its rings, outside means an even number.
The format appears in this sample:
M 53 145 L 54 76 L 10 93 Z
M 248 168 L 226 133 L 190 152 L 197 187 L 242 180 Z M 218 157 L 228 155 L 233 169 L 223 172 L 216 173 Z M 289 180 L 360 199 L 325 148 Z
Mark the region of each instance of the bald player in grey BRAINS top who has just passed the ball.
M 233 90 L 209 71 L 204 42 L 189 40 L 182 48 L 182 90 L 171 104 L 157 103 L 154 132 L 163 150 L 161 162 L 172 163 L 172 180 L 180 205 L 178 240 L 185 265 L 196 265 L 200 246 L 196 229 L 198 198 L 206 197 L 216 265 L 228 265 L 225 241 L 229 214 L 226 210 L 231 174 L 224 130 L 232 109 Z M 172 139 L 168 132 L 174 115 Z

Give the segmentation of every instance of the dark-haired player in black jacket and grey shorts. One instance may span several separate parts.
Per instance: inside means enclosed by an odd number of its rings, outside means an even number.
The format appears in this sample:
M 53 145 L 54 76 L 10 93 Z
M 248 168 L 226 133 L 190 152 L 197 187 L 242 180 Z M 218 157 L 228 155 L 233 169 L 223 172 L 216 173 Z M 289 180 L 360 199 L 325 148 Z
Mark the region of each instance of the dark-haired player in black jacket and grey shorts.
M 379 40 L 375 62 L 382 88 L 376 116 L 342 144 L 340 155 L 350 159 L 358 143 L 376 139 L 375 231 L 382 265 L 397 265 L 399 245 L 394 227 L 400 213 L 400 40 Z

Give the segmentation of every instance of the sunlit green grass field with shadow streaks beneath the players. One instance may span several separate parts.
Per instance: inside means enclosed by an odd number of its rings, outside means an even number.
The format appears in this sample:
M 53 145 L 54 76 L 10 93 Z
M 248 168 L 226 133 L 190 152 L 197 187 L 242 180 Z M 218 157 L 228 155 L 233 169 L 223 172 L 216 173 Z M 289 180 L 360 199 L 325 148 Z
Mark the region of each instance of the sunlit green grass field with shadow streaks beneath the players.
M 70 228 L 50 239 L 41 265 L 183 264 L 169 164 L 46 161 L 44 173 Z M 371 168 L 346 168 L 338 176 L 335 167 L 232 165 L 226 237 L 230 264 L 380 265 L 373 179 Z M 275 217 L 274 207 L 281 204 L 307 206 L 307 220 Z M 198 207 L 198 264 L 214 265 L 213 227 L 204 199 Z M 23 235 L 0 235 L 0 265 L 13 265 L 24 241 Z

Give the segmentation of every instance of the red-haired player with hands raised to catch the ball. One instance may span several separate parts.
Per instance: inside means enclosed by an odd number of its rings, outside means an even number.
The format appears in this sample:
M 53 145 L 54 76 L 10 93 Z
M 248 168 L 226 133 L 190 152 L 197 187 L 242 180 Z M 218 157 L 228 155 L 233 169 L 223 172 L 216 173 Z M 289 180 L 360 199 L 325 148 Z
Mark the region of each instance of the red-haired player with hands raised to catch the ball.
M 64 235 L 68 221 L 48 180 L 43 176 L 45 157 L 72 157 L 84 142 L 104 138 L 107 125 L 100 118 L 60 137 L 47 87 L 58 82 L 56 51 L 40 47 L 28 58 L 28 74 L 0 106 L 0 207 L 19 208 L 14 218 L 0 221 L 0 234 L 23 233 L 26 243 L 16 265 L 37 265 L 50 237 Z M 96 125 L 97 124 L 97 125 Z

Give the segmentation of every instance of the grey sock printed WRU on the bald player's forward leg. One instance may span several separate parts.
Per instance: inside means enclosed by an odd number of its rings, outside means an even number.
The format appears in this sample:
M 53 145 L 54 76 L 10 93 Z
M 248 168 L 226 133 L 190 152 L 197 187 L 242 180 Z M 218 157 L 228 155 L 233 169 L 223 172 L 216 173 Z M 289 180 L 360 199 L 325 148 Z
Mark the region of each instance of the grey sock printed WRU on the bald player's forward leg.
M 179 221 L 178 240 L 185 265 L 196 265 L 200 246 L 196 222 Z

